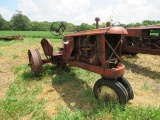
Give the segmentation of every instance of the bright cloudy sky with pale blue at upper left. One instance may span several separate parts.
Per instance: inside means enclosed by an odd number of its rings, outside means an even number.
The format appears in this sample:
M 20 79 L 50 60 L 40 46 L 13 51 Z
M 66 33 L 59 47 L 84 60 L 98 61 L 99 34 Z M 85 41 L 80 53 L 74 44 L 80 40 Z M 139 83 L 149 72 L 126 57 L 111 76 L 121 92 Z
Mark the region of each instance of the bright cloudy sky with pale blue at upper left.
M 31 21 L 66 21 L 75 25 L 100 22 L 123 24 L 160 20 L 160 0 L 0 0 L 0 14 L 9 21 L 16 10 Z

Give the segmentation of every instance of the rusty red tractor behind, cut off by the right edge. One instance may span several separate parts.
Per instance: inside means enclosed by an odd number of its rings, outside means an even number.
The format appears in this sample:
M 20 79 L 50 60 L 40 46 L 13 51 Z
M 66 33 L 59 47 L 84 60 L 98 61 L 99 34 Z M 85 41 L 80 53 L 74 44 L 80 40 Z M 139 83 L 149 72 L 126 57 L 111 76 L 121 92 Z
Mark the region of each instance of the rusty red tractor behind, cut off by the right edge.
M 160 55 L 160 25 L 132 27 L 127 31 L 123 53 Z

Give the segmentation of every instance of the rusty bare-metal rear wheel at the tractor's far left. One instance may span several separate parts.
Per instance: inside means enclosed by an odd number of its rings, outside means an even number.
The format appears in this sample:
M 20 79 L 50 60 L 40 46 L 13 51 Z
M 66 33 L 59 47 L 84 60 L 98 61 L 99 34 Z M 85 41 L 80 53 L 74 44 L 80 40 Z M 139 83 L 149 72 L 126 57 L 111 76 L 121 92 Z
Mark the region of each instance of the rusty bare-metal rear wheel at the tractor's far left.
M 35 73 L 35 76 L 39 76 L 43 72 L 43 63 L 38 50 L 28 50 L 28 58 L 31 70 Z

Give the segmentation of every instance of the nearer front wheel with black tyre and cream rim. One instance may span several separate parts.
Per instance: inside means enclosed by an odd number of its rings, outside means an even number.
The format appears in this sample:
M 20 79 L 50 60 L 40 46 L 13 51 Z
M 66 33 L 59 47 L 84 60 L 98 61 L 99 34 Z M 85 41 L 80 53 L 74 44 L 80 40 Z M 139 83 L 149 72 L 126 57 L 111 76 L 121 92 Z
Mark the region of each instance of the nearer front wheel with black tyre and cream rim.
M 105 102 L 126 104 L 128 93 L 126 88 L 117 80 L 111 78 L 100 78 L 93 87 L 95 98 Z

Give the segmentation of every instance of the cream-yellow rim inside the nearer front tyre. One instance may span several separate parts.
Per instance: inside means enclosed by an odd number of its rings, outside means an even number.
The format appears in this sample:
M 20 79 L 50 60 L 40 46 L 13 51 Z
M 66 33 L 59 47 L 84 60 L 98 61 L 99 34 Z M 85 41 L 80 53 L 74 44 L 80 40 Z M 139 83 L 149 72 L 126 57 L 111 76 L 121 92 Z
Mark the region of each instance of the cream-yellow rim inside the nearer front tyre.
M 106 102 L 113 101 L 113 102 L 119 102 L 119 97 L 117 93 L 108 86 L 101 86 L 97 89 L 98 97 L 101 100 L 104 100 Z

